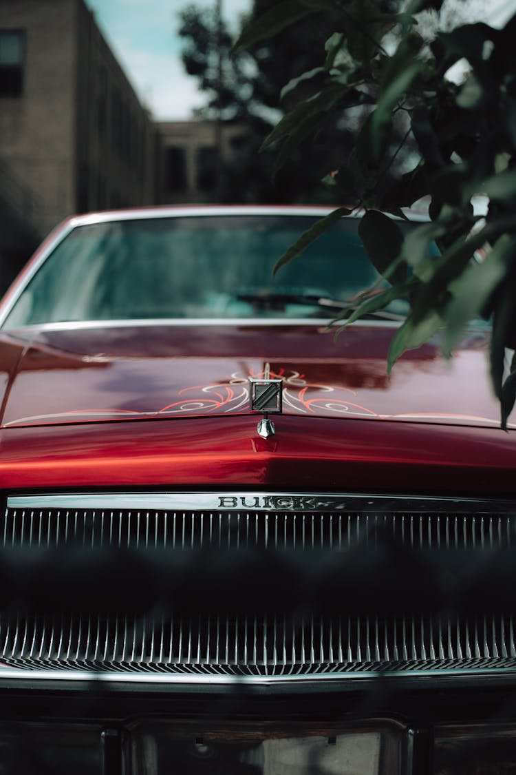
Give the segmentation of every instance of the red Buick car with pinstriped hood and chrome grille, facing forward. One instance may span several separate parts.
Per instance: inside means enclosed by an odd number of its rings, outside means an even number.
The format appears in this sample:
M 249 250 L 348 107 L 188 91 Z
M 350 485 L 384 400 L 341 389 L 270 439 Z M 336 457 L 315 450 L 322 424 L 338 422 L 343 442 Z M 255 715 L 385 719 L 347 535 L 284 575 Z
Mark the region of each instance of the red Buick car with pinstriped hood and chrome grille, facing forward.
M 462 773 L 491 736 L 514 758 L 487 326 L 387 377 L 407 302 L 332 322 L 381 282 L 357 218 L 272 276 L 321 215 L 82 215 L 5 296 L 5 771 Z

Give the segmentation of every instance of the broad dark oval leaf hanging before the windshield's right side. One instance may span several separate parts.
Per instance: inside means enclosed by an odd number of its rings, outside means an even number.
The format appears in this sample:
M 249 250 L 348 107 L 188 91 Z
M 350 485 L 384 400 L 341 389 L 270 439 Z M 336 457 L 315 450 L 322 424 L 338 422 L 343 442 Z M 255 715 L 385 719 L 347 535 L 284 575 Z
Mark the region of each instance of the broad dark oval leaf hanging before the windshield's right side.
M 358 225 L 358 233 L 374 268 L 379 274 L 384 275 L 402 252 L 402 230 L 383 212 L 368 210 Z M 406 274 L 406 265 L 404 267 L 398 264 L 391 274 L 391 283 L 404 282 Z

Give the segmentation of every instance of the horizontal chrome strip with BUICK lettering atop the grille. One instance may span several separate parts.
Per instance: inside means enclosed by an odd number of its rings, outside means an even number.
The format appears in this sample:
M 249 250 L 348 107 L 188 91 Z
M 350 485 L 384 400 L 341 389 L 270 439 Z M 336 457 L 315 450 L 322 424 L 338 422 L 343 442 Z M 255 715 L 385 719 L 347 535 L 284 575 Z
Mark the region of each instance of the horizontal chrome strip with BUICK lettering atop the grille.
M 244 499 L 244 503 L 242 500 Z M 220 501 L 224 501 L 220 504 Z M 232 501 L 237 501 L 233 503 Z M 308 503 L 309 501 L 309 503 Z M 258 505 L 255 505 L 258 504 Z M 275 491 L 207 491 L 207 492 L 106 492 L 76 494 L 9 495 L 8 508 L 79 508 L 79 509 L 158 509 L 171 508 L 219 511 L 302 511 L 303 508 L 317 511 L 339 512 L 344 510 L 374 512 L 399 512 L 412 509 L 422 512 L 485 512 L 492 514 L 516 514 L 516 501 L 494 501 L 484 498 L 432 498 L 430 496 L 408 497 L 392 494 L 371 496 L 356 493 L 303 493 Z

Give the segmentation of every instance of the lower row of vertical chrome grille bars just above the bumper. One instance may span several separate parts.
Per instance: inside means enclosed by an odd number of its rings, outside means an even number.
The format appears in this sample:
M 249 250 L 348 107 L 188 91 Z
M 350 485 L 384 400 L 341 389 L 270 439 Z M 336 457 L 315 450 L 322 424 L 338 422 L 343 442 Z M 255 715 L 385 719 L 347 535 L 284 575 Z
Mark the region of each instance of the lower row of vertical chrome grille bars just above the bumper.
M 18 667 L 285 676 L 515 667 L 514 618 L 471 622 L 222 615 L 17 617 L 2 662 Z

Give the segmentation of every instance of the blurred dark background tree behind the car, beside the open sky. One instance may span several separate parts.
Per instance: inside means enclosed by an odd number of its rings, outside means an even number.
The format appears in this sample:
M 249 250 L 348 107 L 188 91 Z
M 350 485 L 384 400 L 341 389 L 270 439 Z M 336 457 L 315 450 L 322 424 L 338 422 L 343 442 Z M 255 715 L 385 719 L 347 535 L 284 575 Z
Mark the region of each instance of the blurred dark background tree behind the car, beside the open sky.
M 214 4 L 210 4 L 214 5 Z M 283 9 L 289 11 L 282 16 Z M 299 9 L 299 13 L 296 11 Z M 318 9 L 295 2 L 255 0 L 251 18 L 273 13 L 274 37 L 251 43 L 246 50 L 230 55 L 235 35 L 224 24 L 217 30 L 217 19 L 211 9 L 190 5 L 179 15 L 179 35 L 183 40 L 183 66 L 206 95 L 200 115 L 215 119 L 220 114 L 225 124 L 241 128 L 232 141 L 231 153 L 224 163 L 221 197 L 224 202 L 313 202 L 331 204 L 333 195 L 321 187 L 313 175 L 315 169 L 326 169 L 337 158 L 343 160 L 352 142 L 351 130 L 340 125 L 341 116 L 316 116 L 315 123 L 305 122 L 279 160 L 273 148 L 258 153 L 263 138 L 275 122 L 296 104 L 302 95 L 323 77 L 323 67 L 316 68 L 326 39 L 333 29 L 333 15 L 328 14 L 313 26 Z M 297 21 L 294 19 L 297 17 Z M 282 19 L 289 29 L 282 30 Z M 219 78 L 219 48 L 221 79 Z M 300 80 L 299 73 L 307 73 Z M 290 91 L 280 99 L 286 82 Z M 339 123 L 339 126 L 337 126 Z M 304 139 L 303 139 L 304 138 Z M 294 147 L 295 146 L 295 147 Z

